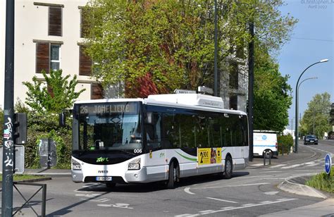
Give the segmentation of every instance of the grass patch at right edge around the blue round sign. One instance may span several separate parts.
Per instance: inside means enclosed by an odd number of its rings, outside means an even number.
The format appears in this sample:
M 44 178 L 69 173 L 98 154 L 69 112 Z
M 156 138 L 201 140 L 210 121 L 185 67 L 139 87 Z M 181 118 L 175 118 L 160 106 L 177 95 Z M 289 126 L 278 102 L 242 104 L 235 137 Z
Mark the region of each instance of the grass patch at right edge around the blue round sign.
M 334 193 L 334 168 L 331 168 L 329 176 L 325 172 L 319 173 L 312 176 L 305 185 L 324 192 Z

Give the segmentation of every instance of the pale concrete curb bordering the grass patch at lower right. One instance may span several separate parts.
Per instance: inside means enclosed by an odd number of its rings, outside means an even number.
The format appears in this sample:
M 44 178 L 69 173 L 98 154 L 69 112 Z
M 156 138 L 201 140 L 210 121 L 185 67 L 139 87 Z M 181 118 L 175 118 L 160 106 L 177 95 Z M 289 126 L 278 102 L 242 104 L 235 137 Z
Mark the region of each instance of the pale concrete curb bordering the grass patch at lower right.
M 281 182 L 277 187 L 280 190 L 290 192 L 292 194 L 326 199 L 328 197 L 320 191 L 316 190 L 315 188 L 296 183 L 300 180 L 307 180 L 308 177 L 316 174 L 317 173 L 306 173 L 304 175 L 292 175 L 288 178 L 285 178 L 285 180 Z

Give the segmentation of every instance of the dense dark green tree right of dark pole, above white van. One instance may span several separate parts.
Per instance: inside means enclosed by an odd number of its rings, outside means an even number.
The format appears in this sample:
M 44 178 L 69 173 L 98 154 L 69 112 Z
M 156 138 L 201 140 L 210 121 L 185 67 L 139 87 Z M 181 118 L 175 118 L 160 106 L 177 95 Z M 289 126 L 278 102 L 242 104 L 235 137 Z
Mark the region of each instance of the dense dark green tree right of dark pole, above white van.
M 254 68 L 254 129 L 283 132 L 292 104 L 288 75 L 281 75 L 278 64 L 266 52 L 256 56 Z

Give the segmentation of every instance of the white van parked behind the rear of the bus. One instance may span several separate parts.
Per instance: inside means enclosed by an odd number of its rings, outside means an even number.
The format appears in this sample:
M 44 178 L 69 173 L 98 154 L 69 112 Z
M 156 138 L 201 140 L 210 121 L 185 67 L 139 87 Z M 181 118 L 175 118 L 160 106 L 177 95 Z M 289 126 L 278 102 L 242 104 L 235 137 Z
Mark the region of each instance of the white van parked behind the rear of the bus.
M 254 156 L 278 156 L 277 134 L 271 130 L 254 130 L 253 155 Z

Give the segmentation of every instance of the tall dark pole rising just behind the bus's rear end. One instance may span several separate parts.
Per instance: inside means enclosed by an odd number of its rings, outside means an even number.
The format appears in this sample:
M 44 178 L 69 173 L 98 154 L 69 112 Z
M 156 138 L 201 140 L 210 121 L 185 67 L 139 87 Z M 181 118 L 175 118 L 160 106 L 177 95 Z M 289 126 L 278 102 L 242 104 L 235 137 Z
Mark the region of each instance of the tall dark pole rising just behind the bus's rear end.
M 249 161 L 253 161 L 253 104 L 254 104 L 254 23 L 249 23 L 252 39 L 248 45 L 248 122 L 249 122 Z

